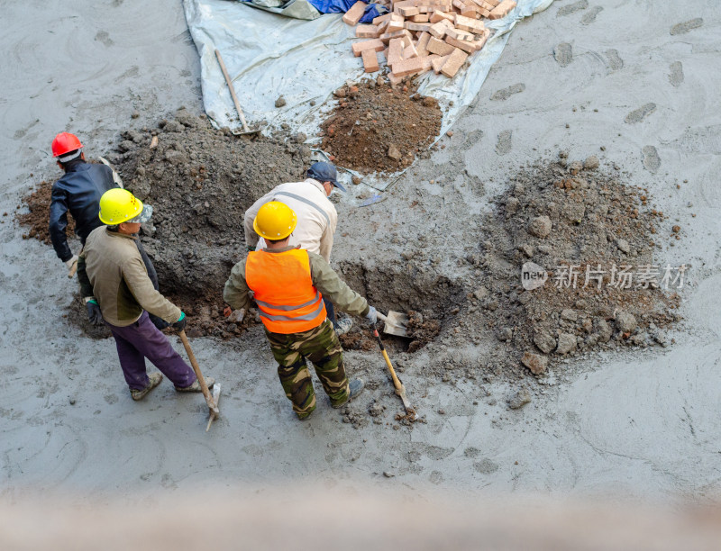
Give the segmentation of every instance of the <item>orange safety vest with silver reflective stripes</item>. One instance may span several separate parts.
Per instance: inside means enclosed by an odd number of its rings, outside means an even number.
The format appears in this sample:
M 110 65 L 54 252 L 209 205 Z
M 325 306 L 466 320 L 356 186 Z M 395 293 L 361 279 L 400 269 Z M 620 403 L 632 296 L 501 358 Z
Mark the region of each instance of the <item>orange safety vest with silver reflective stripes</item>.
M 271 333 L 299 333 L 325 321 L 323 296 L 313 285 L 305 249 L 248 253 L 245 283 L 258 303 L 260 321 Z

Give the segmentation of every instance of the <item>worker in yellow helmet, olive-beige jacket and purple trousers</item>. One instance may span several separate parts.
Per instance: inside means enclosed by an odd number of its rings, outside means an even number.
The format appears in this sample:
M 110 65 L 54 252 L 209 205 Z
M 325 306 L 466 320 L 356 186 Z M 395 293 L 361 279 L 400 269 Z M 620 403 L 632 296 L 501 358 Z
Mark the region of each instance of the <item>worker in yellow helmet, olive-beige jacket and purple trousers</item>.
M 154 313 L 177 330 L 186 326 L 186 315 L 152 285 L 135 241 L 141 222 L 149 221 L 152 207 L 124 189 L 115 188 L 100 198 L 103 226 L 87 236 L 78 259 L 78 281 L 88 317 L 105 320 L 125 381 L 133 400 L 141 400 L 160 384 L 162 375 L 145 371 L 145 358 L 175 384 L 178 392 L 201 392 L 193 369 L 170 346 L 168 338 L 148 317 Z M 214 379 L 205 383 L 213 386 Z

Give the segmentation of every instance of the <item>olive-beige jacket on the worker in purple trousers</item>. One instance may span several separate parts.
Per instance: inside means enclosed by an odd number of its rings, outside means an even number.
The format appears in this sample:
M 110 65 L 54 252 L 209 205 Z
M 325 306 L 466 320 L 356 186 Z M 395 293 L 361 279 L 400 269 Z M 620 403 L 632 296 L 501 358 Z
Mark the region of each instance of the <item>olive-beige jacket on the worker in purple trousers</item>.
M 153 288 L 135 239 L 105 226 L 91 231 L 78 259 L 81 293 L 95 297 L 105 321 L 117 327 L 138 321 L 143 310 L 178 321 L 180 309 Z

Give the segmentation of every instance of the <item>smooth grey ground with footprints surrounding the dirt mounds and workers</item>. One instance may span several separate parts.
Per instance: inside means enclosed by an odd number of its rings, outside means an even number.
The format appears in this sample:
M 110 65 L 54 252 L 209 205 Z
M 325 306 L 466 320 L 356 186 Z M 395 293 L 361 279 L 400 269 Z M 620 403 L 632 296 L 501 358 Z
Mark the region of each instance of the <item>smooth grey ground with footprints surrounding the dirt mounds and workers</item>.
M 323 400 L 312 420 L 294 420 L 260 328 L 242 342 L 195 339 L 201 366 L 224 385 L 223 417 L 205 434 L 197 395 L 178 396 L 165 382 L 132 402 L 113 341 L 87 339 L 63 318 L 76 283 L 50 248 L 21 239 L 5 217 L 0 495 L 142 501 L 208 484 L 264 489 L 307 478 L 345 495 L 442 488 L 466 496 L 721 497 L 721 10 L 712 0 L 577 5 L 584 3 L 555 2 L 516 27 L 445 148 L 417 162 L 387 201 L 339 204 L 347 235 L 337 236 L 334 260 L 393 262 L 402 244 L 381 230 L 391 221 L 409 239 L 427 234 L 426 246 L 451 272 L 470 239 L 454 211 L 483 212 L 507 175 L 535 158 L 558 149 L 571 159 L 598 154 L 649 186 L 683 226 L 681 245 L 660 253 L 663 262 L 693 266 L 675 345 L 562 366 L 528 381 L 533 402 L 511 411 L 507 396 L 518 384 L 484 383 L 483 392 L 424 379 L 424 365 L 472 359 L 484 346 L 449 349 L 442 338 L 404 373 L 427 423 L 393 429 L 391 410 L 382 424 L 356 429 Z M 702 24 L 674 27 L 693 18 Z M 151 125 L 180 105 L 202 109 L 178 1 L 152 9 L 122 0 L 5 3 L 3 19 L 0 212 L 12 212 L 39 176 L 57 177 L 49 150 L 58 131 L 77 132 L 96 156 L 130 125 Z M 652 103 L 653 113 L 636 111 Z M 464 187 L 471 177 L 485 196 Z M 424 220 L 407 214 L 419 196 L 435 209 Z M 350 353 L 347 363 L 351 373 L 385 376 L 375 351 Z M 380 396 L 390 403 L 389 393 L 380 384 L 354 407 L 364 411 Z

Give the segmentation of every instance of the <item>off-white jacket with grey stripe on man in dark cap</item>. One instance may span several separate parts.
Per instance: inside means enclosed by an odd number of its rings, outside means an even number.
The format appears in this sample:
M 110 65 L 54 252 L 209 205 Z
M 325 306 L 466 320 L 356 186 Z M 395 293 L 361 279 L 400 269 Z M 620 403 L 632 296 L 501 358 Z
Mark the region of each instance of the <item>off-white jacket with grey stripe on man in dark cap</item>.
M 269 201 L 285 203 L 297 214 L 297 226 L 288 241 L 290 245 L 299 245 L 300 248 L 324 257 L 326 262 L 331 261 L 338 212 L 325 194 L 323 184 L 313 178 L 281 184 L 253 203 L 245 212 L 245 242 L 256 250 L 265 248 L 265 240 L 259 239 L 253 230 L 253 221 L 260 207 Z

